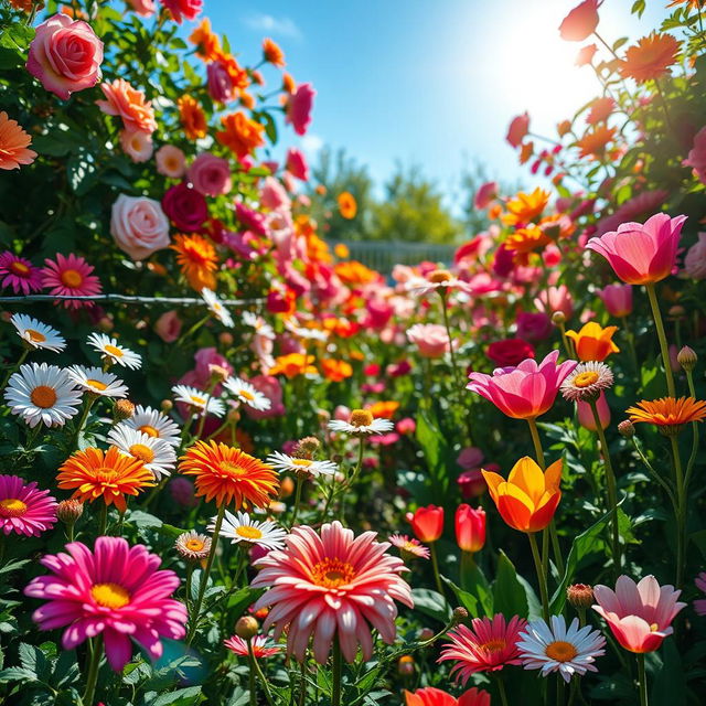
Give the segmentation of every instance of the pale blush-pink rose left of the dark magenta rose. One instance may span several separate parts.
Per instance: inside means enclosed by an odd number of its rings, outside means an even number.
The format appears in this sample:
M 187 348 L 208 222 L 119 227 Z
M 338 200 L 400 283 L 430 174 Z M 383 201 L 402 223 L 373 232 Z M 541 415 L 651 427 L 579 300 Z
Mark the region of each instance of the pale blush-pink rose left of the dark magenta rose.
M 169 247 L 169 222 L 159 202 L 120 194 L 113 204 L 110 235 L 133 260 Z

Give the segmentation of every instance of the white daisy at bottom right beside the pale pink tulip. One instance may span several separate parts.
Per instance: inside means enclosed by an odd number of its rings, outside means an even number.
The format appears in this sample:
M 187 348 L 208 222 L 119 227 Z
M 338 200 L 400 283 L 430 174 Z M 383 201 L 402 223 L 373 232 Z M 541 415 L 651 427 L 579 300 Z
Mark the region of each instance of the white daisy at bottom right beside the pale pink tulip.
M 559 672 L 565 682 L 574 674 L 597 672 L 596 657 L 606 653 L 606 639 L 590 625 L 579 628 L 574 618 L 568 630 L 564 616 L 552 616 L 552 628 L 544 620 L 533 620 L 520 633 L 517 648 L 525 670 L 542 670 L 542 675 Z

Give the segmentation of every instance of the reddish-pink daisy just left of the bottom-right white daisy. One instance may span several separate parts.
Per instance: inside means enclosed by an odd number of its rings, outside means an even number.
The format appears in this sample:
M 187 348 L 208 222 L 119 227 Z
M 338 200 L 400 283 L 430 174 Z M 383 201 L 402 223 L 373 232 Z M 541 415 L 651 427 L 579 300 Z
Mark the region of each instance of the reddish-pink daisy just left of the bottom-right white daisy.
M 495 672 L 507 664 L 522 664 L 517 640 L 527 621 L 515 616 L 509 623 L 502 613 L 490 618 L 475 618 L 471 627 L 459 625 L 448 637 L 451 643 L 443 646 L 439 662 L 453 660 L 451 674 L 463 684 L 475 672 Z

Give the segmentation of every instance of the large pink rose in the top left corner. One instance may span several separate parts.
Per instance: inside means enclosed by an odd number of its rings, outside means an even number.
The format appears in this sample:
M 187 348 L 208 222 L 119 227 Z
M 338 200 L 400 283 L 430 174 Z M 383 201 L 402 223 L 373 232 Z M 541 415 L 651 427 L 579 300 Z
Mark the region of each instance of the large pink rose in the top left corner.
M 103 42 L 90 25 L 55 14 L 36 28 L 26 69 L 63 100 L 95 86 L 100 78 Z

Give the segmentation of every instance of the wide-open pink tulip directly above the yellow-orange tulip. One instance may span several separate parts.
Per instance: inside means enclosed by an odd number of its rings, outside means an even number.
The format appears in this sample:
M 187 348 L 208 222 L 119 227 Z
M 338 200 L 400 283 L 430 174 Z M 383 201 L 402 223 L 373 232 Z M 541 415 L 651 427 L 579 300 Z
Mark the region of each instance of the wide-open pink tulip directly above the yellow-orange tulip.
M 492 375 L 471 373 L 467 388 L 492 402 L 514 419 L 535 419 L 548 411 L 561 383 L 577 366 L 576 361 L 556 364 L 558 351 L 552 351 L 537 365 L 527 359 L 517 367 L 499 367 Z

